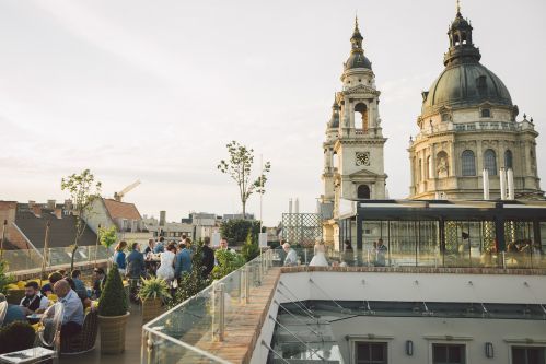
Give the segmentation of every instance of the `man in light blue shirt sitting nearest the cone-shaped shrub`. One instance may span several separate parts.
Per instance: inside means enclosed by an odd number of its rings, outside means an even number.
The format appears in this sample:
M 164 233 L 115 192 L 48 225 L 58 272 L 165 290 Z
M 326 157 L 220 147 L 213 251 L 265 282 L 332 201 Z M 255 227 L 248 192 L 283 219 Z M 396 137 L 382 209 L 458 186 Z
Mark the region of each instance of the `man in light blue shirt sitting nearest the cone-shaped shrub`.
M 60 327 L 61 338 L 80 333 L 83 326 L 83 305 L 80 297 L 66 280 L 55 283 L 54 292 L 65 308 Z

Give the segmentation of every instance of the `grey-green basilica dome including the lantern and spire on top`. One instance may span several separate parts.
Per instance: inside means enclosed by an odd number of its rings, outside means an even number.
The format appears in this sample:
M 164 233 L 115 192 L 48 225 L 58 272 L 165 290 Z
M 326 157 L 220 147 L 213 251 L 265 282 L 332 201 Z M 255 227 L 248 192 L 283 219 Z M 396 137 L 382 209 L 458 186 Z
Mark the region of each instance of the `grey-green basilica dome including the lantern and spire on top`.
M 441 107 L 475 107 L 483 103 L 513 106 L 504 83 L 479 60 L 481 55 L 472 39 L 473 27 L 457 11 L 448 35 L 450 49 L 444 56 L 445 69 L 428 92 L 423 92 L 422 115 Z

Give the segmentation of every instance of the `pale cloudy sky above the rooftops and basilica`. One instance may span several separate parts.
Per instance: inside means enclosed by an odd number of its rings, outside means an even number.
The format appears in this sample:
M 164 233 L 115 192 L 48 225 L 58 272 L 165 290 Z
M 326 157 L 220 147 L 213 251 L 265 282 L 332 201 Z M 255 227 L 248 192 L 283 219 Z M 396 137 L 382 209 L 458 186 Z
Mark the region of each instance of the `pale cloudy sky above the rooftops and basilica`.
M 481 63 L 546 134 L 546 1 L 462 1 Z M 355 14 L 381 91 L 391 198 L 408 195 L 421 91 L 443 69 L 454 0 L 0 0 L 0 200 L 63 200 L 90 168 L 141 214 L 241 211 L 217 169 L 231 140 L 271 162 L 264 221 L 315 212 L 322 142 Z M 537 139 L 538 173 L 546 142 Z M 543 188 L 546 188 L 543 183 Z M 259 198 L 247 211 L 259 218 Z

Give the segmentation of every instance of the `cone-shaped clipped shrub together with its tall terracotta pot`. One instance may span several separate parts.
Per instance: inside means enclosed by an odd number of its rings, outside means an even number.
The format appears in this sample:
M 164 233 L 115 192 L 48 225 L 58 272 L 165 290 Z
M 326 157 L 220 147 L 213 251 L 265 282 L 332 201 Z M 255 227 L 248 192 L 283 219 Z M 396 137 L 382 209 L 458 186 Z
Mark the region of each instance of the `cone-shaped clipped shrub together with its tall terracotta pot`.
M 120 354 L 125 350 L 125 328 L 129 318 L 127 295 L 121 275 L 114 265 L 108 272 L 101 300 L 98 322 L 101 327 L 101 353 Z

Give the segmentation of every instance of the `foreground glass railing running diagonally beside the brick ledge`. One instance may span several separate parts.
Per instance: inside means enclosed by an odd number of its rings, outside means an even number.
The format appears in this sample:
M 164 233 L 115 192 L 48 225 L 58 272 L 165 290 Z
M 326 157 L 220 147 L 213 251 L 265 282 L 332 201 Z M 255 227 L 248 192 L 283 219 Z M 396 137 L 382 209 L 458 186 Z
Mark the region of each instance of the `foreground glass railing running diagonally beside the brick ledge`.
M 225 328 L 241 319 L 252 289 L 263 284 L 271 266 L 271 251 L 266 250 L 144 325 L 141 363 L 229 363 L 219 344 Z

